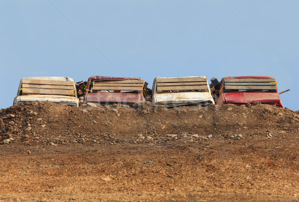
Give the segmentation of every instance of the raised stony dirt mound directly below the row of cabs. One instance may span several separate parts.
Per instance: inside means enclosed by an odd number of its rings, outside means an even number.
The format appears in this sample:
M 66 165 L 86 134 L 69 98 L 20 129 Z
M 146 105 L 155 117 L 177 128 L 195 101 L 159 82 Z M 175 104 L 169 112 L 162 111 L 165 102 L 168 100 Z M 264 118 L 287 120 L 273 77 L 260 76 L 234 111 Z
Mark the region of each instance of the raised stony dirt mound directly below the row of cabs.
M 0 140 L 26 145 L 186 142 L 273 136 L 297 130 L 298 123 L 298 113 L 262 104 L 75 108 L 37 101 L 0 110 Z

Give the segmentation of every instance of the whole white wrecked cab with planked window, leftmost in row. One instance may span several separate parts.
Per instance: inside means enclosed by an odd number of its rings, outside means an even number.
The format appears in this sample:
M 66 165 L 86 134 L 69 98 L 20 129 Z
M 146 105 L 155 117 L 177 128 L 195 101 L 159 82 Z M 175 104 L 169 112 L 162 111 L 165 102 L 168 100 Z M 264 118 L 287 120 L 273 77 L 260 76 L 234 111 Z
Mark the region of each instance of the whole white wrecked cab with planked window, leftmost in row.
M 23 77 L 13 105 L 24 102 L 55 102 L 79 106 L 75 81 L 69 77 Z

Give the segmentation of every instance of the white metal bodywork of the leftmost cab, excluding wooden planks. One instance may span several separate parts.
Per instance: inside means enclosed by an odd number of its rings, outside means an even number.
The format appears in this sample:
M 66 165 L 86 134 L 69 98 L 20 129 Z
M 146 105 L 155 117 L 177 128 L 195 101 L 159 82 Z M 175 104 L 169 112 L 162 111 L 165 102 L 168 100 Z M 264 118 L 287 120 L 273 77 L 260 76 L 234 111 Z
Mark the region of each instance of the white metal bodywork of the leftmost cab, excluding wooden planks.
M 36 80 L 48 80 L 48 81 L 72 81 L 74 83 L 74 96 L 65 95 L 22 95 L 22 80 L 23 79 L 36 79 Z M 17 96 L 13 100 L 13 105 L 17 105 L 23 102 L 55 102 L 60 104 L 66 104 L 70 106 L 79 106 L 79 99 L 77 96 L 75 81 L 69 77 L 23 77 L 20 81 L 19 88 L 17 91 Z

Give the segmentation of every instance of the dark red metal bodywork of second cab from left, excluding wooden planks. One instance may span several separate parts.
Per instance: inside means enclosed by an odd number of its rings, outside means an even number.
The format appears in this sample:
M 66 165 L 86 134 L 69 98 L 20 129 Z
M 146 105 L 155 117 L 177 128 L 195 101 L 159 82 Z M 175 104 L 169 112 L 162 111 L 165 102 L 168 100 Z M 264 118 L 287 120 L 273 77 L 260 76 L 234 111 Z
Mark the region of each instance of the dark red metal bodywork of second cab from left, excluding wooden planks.
M 84 96 L 84 103 L 87 102 L 97 102 L 100 104 L 112 104 L 112 103 L 121 103 L 132 105 L 136 102 L 144 101 L 143 92 L 141 91 L 132 91 L 132 92 L 97 92 L 91 93 L 91 83 L 93 81 L 99 80 L 126 80 L 126 79 L 135 79 L 141 80 L 140 77 L 109 77 L 109 76 L 91 76 L 88 79 L 86 92 Z

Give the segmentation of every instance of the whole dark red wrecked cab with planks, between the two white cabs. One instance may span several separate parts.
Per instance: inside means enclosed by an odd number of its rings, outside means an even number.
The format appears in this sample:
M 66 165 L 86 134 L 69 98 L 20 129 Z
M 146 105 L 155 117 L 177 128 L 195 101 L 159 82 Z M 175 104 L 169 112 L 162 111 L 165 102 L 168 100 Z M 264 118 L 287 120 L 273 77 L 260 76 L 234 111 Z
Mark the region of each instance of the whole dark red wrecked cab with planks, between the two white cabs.
M 84 103 L 133 105 L 145 101 L 144 85 L 145 80 L 139 77 L 91 76 L 87 82 Z

